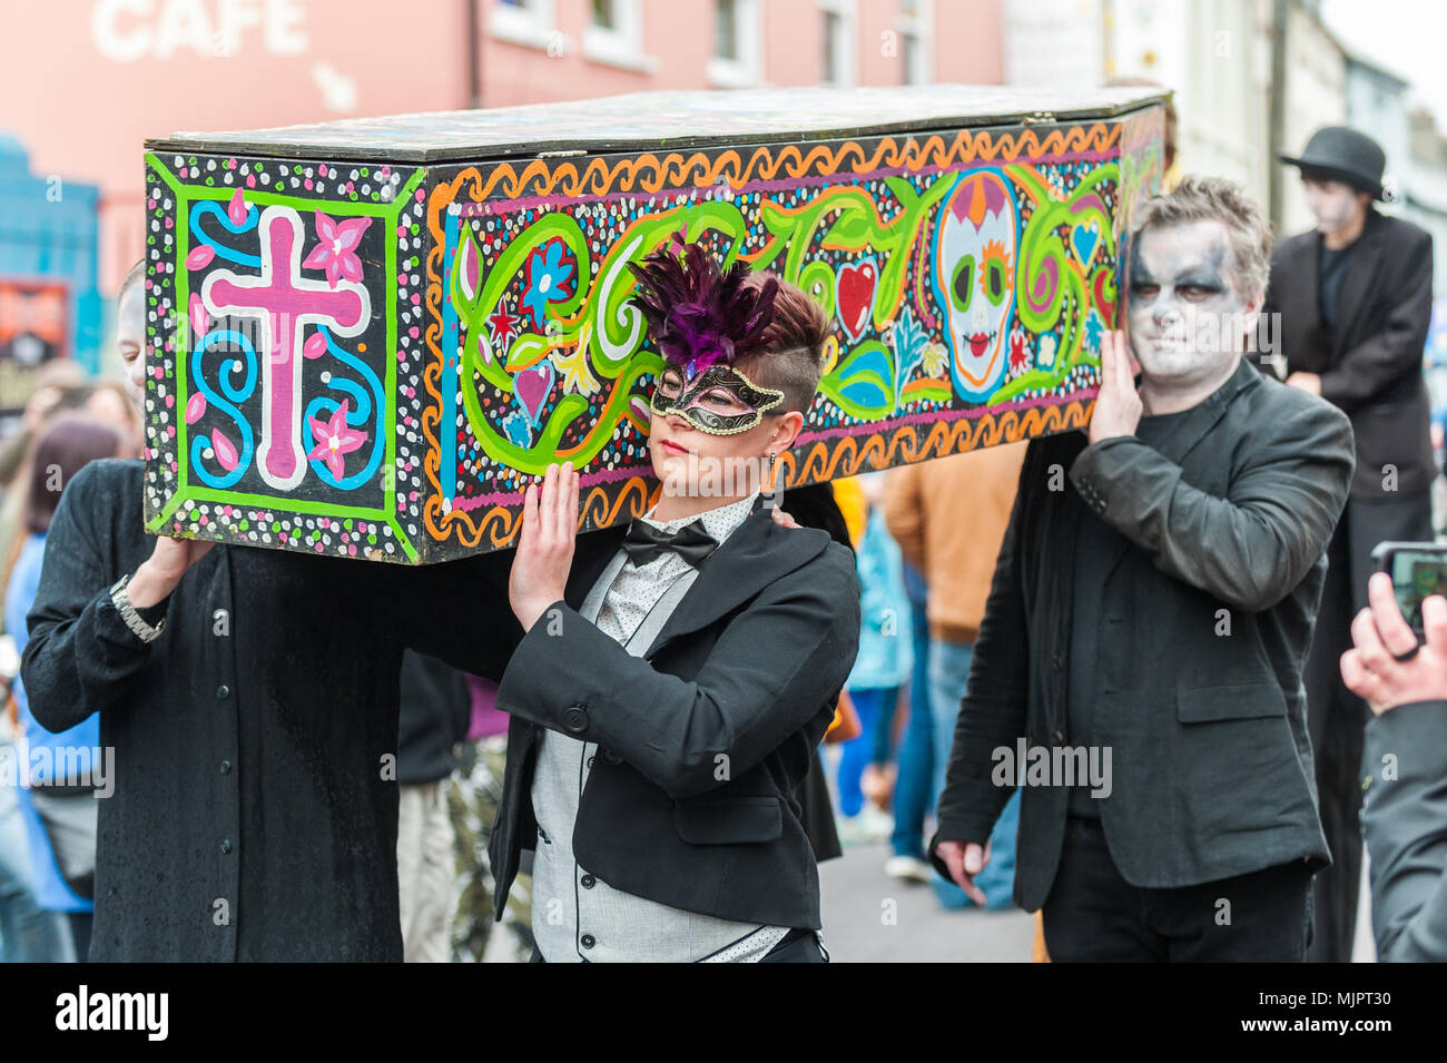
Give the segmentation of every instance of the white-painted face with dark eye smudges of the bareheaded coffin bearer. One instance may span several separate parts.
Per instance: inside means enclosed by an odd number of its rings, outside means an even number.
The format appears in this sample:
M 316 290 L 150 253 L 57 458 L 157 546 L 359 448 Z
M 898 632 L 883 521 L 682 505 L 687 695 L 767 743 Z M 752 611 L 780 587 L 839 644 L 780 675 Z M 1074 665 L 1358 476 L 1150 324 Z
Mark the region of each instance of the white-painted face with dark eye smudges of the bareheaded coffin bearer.
M 1130 347 L 1149 383 L 1189 388 L 1234 366 L 1256 325 L 1220 221 L 1139 233 L 1130 249 Z

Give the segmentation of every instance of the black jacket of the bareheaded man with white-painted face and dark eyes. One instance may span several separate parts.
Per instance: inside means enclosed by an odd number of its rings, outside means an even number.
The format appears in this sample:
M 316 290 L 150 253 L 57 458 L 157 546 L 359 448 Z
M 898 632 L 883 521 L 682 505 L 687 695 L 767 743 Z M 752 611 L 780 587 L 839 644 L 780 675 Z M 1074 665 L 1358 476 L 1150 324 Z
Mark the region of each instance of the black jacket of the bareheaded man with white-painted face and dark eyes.
M 1301 673 L 1351 477 L 1351 430 L 1330 404 L 1244 360 L 1202 405 L 1210 415 L 1162 451 L 1134 437 L 1088 447 L 1079 432 L 1030 444 L 935 842 L 985 842 L 1011 793 L 991 781 L 993 751 L 1024 736 L 1111 748 L 1100 814 L 1133 885 L 1194 885 L 1298 858 L 1325 865 Z M 1064 470 L 1071 483 L 1052 489 Z M 1082 739 L 1065 727 L 1087 505 L 1126 542 L 1098 607 L 1098 697 Z M 1066 797 L 1053 785 L 1020 798 L 1023 908 L 1051 891 Z

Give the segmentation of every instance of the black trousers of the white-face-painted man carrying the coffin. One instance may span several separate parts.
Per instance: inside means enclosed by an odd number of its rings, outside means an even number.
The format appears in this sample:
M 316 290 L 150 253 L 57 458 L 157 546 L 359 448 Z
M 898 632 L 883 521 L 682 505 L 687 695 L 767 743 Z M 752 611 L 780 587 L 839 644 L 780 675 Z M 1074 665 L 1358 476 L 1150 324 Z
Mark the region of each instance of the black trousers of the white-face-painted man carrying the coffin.
M 1045 898 L 1056 963 L 1299 963 L 1311 927 L 1311 872 L 1292 863 L 1175 889 L 1133 887 L 1100 820 L 1071 819 Z

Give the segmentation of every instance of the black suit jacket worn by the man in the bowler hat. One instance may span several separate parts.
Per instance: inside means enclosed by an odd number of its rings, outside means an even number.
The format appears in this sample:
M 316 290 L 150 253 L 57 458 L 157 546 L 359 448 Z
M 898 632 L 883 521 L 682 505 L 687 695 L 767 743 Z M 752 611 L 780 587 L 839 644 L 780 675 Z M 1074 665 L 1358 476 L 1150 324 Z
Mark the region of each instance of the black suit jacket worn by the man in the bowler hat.
M 1321 398 L 1351 418 L 1356 476 L 1351 496 L 1389 500 L 1395 490 L 1425 492 L 1437 474 L 1422 380 L 1422 349 L 1433 317 L 1433 237 L 1409 221 L 1370 211 L 1341 281 L 1337 327 L 1327 336 L 1320 304 L 1321 236 L 1276 246 L 1265 314 L 1288 372 L 1321 375 Z M 1389 482 L 1391 483 L 1391 482 Z

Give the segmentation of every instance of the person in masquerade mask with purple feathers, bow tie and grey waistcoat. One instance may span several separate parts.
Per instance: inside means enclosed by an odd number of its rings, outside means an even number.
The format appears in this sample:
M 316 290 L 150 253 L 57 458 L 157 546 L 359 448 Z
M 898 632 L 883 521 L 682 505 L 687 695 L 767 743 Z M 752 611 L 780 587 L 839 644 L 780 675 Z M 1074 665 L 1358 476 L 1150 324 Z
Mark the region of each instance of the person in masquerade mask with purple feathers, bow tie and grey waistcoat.
M 849 551 L 781 528 L 763 489 L 813 401 L 823 311 L 700 244 L 631 269 L 664 357 L 663 492 L 576 541 L 579 474 L 528 487 L 509 599 L 527 632 L 489 846 L 498 904 L 534 849 L 547 962 L 823 962 L 794 791 L 860 632 Z

